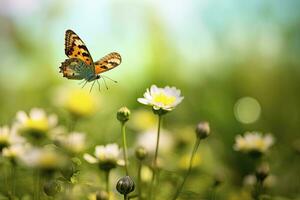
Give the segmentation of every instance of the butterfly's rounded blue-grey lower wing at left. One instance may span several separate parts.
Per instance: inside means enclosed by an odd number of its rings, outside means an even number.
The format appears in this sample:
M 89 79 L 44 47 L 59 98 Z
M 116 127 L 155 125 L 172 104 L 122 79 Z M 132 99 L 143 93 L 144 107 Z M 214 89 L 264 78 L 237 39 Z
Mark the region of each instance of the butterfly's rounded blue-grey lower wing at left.
M 60 72 L 68 79 L 81 80 L 91 73 L 91 69 L 79 58 L 69 58 L 61 63 Z

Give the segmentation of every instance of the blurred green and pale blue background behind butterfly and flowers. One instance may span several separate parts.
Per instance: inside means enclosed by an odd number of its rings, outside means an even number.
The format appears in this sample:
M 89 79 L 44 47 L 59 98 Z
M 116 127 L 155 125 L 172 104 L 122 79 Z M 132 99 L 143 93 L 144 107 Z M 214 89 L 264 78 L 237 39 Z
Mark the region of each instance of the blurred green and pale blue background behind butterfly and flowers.
M 167 152 L 172 162 L 166 168 L 180 168 L 200 120 L 212 128 L 187 190 L 205 193 L 211 177 L 222 174 L 221 196 L 240 194 L 251 167 L 233 150 L 234 138 L 257 130 L 276 138 L 269 156 L 276 184 L 269 193 L 300 198 L 299 7 L 296 0 L 0 0 L 0 125 L 32 107 L 68 123 L 55 102 L 61 88 L 81 88 L 58 73 L 66 58 L 64 34 L 72 29 L 94 60 L 111 51 L 123 58 L 105 74 L 118 83 L 94 88 L 95 113 L 76 127 L 87 133 L 88 149 L 121 144 L 116 111 L 127 106 L 133 117 L 141 114 L 145 107 L 136 99 L 150 85 L 176 86 L 185 99 L 164 120 L 177 145 Z M 130 146 L 141 123 L 129 122 Z

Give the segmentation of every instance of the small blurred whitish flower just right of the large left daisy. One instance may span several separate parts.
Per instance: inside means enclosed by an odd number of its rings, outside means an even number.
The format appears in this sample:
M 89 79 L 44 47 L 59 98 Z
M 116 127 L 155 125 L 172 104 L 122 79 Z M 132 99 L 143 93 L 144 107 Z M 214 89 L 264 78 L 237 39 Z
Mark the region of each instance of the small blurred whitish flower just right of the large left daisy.
M 59 145 L 71 153 L 80 153 L 85 148 L 85 134 L 72 132 L 68 135 L 60 135 L 57 138 Z

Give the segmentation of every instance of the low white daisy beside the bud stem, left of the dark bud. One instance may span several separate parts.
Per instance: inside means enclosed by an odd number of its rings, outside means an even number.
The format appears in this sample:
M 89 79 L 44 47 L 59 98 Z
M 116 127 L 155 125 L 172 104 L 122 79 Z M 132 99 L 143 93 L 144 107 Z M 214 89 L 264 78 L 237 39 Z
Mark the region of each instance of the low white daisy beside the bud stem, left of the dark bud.
M 113 143 L 106 146 L 98 145 L 95 148 L 94 156 L 86 153 L 83 158 L 91 164 L 99 164 L 103 170 L 110 170 L 117 165 L 124 165 L 124 160 L 120 159 L 120 154 L 119 146 Z

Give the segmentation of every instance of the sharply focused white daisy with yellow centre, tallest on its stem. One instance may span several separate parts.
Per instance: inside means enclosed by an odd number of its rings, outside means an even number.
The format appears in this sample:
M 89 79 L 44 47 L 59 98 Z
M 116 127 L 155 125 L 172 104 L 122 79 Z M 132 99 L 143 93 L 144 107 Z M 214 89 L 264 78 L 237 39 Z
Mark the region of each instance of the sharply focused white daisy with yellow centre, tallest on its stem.
M 175 87 L 166 86 L 165 88 L 158 88 L 152 85 L 150 90 L 144 93 L 144 98 L 138 98 L 138 102 L 152 106 L 154 110 L 173 110 L 184 97 L 180 96 L 180 90 Z

